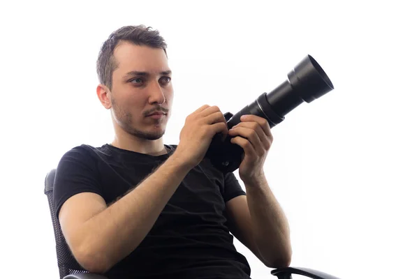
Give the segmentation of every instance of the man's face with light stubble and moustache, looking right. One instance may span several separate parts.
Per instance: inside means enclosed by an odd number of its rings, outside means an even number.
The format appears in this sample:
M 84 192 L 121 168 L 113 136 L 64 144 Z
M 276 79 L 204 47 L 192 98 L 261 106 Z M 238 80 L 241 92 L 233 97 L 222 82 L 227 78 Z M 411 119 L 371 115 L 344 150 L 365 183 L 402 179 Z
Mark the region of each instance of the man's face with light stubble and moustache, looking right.
M 126 133 L 159 139 L 165 133 L 173 98 L 164 50 L 124 42 L 115 48 L 114 56 L 112 116 Z

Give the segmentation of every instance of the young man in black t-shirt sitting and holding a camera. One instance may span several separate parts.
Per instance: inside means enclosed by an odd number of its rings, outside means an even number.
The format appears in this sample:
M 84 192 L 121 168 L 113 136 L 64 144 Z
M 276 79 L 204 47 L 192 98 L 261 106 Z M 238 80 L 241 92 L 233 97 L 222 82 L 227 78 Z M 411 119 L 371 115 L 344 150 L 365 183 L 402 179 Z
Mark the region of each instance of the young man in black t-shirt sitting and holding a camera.
M 219 108 L 203 105 L 179 144 L 163 144 L 173 88 L 166 43 L 150 27 L 113 32 L 97 70 L 115 140 L 68 151 L 54 181 L 56 214 L 80 265 L 109 278 L 249 278 L 233 234 L 266 266 L 288 266 L 288 223 L 263 174 L 273 140 L 265 119 L 246 116 L 228 130 Z M 205 158 L 216 133 L 244 149 L 246 193 Z

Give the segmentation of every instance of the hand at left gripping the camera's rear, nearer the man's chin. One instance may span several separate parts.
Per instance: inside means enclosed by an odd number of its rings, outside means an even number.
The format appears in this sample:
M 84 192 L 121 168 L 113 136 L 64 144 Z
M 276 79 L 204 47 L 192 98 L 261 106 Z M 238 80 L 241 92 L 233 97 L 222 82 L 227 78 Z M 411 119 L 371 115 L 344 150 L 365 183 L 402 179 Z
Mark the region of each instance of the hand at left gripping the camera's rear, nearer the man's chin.
M 216 133 L 228 135 L 226 119 L 219 107 L 203 105 L 186 117 L 176 153 L 195 167 L 203 160 Z

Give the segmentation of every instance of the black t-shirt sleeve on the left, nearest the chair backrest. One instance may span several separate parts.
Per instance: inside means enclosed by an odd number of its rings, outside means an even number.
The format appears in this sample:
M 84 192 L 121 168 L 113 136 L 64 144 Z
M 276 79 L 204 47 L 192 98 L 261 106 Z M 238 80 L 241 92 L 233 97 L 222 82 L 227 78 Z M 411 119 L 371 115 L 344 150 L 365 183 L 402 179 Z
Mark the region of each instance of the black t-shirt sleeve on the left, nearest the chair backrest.
M 77 146 L 67 151 L 57 165 L 54 178 L 53 201 L 55 216 L 69 197 L 90 192 L 103 196 L 94 157 L 87 149 Z

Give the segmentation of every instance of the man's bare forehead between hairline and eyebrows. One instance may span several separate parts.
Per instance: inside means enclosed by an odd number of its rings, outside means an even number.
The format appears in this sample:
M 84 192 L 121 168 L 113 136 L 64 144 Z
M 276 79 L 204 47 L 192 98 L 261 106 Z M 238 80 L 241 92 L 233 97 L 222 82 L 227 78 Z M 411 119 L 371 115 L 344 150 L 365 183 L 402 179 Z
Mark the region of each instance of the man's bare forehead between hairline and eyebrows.
M 133 45 L 123 42 L 115 47 L 115 71 L 126 73 L 132 70 L 160 73 L 169 70 L 166 53 L 161 48 Z

